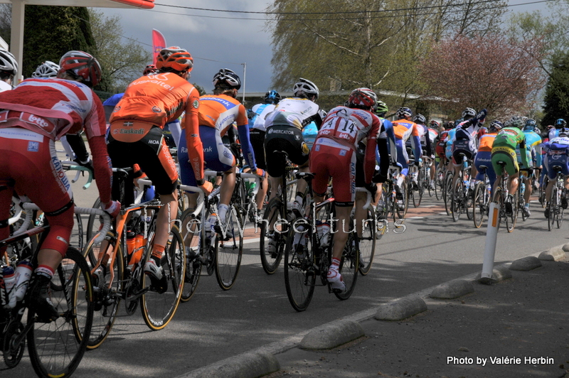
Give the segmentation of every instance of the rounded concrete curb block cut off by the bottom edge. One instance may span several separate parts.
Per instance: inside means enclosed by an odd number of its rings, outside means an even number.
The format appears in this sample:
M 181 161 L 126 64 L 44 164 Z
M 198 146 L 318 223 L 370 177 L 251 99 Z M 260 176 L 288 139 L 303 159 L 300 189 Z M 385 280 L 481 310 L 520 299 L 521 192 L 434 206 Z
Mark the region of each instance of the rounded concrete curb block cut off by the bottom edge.
M 249 352 L 179 375 L 176 378 L 255 378 L 280 370 L 271 353 Z

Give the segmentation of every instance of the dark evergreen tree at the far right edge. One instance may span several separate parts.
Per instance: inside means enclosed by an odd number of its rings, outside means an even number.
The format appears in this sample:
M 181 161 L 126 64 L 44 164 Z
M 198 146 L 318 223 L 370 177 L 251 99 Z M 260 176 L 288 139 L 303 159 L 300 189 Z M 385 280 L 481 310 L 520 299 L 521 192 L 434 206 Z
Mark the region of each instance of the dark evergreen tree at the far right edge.
M 556 55 L 551 66 L 542 124 L 553 124 L 558 118 L 569 119 L 569 53 Z

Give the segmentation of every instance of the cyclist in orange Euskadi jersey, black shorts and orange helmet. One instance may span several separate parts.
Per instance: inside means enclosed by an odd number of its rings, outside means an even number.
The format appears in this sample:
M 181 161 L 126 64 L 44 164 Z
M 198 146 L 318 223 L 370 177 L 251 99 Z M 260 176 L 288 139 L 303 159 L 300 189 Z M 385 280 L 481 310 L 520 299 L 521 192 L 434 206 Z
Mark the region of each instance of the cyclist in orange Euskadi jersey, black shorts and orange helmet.
M 184 111 L 188 146 L 184 158 L 191 161 L 198 185 L 206 191 L 209 187 L 204 186 L 203 148 L 198 136 L 198 90 L 186 80 L 193 59 L 188 51 L 172 46 L 160 51 L 156 66 L 159 71 L 154 75 L 142 76 L 129 84 L 110 117 L 107 138 L 112 166 L 138 164 L 152 180 L 164 205 L 164 211 L 158 212 L 151 259 L 144 264 L 144 273 L 150 277 L 152 286 L 165 291 L 167 282 L 160 260 L 168 242 L 170 222 L 176 219 L 178 211 L 178 173 L 162 128 Z M 119 180 L 113 180 L 113 198 L 120 195 L 118 184 Z M 127 204 L 134 202 L 133 193 L 133 190 L 124 191 Z

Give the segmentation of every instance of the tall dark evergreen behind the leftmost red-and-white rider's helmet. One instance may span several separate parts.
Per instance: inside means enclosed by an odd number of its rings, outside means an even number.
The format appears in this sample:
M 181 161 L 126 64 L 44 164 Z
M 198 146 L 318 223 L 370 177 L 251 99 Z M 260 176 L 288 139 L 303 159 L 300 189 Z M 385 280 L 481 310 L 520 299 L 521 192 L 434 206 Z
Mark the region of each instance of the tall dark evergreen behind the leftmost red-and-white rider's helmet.
M 69 50 L 83 50 L 96 56 L 87 9 L 80 6 L 27 5 L 24 16 L 24 77 L 31 77 L 46 60 L 58 63 Z

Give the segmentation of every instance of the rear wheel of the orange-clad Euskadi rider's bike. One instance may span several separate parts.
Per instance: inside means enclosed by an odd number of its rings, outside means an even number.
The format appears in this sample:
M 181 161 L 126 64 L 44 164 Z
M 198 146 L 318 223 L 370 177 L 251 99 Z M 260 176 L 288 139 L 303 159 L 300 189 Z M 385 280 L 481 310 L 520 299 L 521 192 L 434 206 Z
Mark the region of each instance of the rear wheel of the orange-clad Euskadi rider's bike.
M 114 234 L 112 232 L 107 234 L 111 240 L 113 235 Z M 95 234 L 95 236 L 97 236 L 97 234 Z M 107 251 L 109 252 L 111 252 L 115 247 L 114 243 L 110 244 L 107 240 L 105 240 L 105 244 L 109 246 L 107 247 Z M 85 252 L 83 252 L 83 256 L 85 256 L 87 261 L 90 259 L 95 259 L 95 261 L 97 261 L 100 252 L 101 243 L 95 244 L 95 240 L 92 239 L 89 244 L 87 244 Z M 90 262 L 87 264 L 89 264 L 90 268 L 95 265 Z M 111 331 L 112 325 L 115 323 L 121 299 L 118 293 L 122 290 L 121 285 L 123 272 L 124 262 L 122 259 L 122 249 L 119 247 L 117 258 L 115 259 L 115 264 L 113 266 L 113 274 L 111 274 L 107 269 L 107 274 L 105 274 L 105 283 L 103 285 L 97 284 L 97 286 L 93 286 L 95 312 L 93 314 L 91 335 L 87 342 L 87 349 L 95 349 L 99 347 L 102 342 L 105 341 Z

